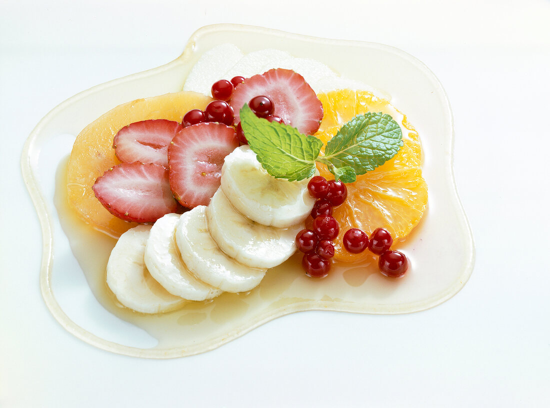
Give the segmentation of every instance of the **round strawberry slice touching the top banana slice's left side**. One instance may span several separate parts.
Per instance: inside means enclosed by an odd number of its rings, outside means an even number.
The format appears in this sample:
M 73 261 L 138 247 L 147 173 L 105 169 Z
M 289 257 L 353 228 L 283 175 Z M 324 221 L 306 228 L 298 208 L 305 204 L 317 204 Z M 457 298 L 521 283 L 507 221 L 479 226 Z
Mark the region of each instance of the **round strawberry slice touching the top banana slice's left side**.
M 238 146 L 235 129 L 222 123 L 183 128 L 168 147 L 170 186 L 180 204 L 207 206 L 219 187 L 224 158 Z

